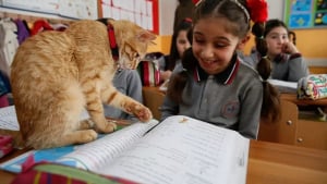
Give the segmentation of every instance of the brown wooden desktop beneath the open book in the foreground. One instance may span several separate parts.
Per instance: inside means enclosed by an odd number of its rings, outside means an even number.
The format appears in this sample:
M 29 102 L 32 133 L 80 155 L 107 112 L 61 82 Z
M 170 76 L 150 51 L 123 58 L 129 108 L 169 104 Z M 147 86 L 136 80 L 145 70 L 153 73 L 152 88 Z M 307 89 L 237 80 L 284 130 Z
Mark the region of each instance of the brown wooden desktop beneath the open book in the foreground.
M 0 160 L 24 152 L 12 152 Z M 15 175 L 0 171 L 0 183 L 9 184 Z M 251 140 L 247 184 L 326 184 L 327 151 Z

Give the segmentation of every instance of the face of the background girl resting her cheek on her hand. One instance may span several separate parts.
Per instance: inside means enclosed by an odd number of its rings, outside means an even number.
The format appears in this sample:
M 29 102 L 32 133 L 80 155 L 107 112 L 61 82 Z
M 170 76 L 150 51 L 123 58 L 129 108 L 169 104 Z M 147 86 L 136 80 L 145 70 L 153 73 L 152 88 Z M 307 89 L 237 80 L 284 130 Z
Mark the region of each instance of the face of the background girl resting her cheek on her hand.
M 289 42 L 288 30 L 280 26 L 272 28 L 265 37 L 268 56 L 275 58 L 283 51 L 284 45 Z

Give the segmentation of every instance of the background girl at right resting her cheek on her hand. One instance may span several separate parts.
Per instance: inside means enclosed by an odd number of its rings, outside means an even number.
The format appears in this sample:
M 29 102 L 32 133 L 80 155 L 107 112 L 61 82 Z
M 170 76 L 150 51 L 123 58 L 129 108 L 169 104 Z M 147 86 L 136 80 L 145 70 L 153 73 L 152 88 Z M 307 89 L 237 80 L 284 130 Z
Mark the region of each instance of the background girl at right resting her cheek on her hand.
M 280 20 L 269 20 L 265 25 L 254 24 L 256 49 L 251 53 L 254 66 L 262 57 L 271 62 L 272 79 L 298 82 L 310 74 L 308 68 L 295 44 L 290 40 L 292 34 Z

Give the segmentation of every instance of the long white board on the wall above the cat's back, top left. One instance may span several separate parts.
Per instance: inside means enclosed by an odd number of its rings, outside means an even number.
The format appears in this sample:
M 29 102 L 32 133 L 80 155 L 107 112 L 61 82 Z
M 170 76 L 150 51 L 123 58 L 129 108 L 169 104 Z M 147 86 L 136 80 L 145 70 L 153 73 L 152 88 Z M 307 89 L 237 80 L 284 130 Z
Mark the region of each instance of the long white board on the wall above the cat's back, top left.
M 98 19 L 97 0 L 1 0 L 0 5 L 70 19 Z

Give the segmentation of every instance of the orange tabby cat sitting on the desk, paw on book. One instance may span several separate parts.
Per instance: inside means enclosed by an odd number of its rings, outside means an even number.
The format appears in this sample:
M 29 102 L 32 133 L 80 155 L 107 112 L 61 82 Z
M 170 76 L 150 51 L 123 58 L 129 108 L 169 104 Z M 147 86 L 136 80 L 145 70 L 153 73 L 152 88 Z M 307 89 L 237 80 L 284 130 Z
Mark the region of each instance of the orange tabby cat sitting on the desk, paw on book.
M 36 149 L 88 143 L 116 124 L 104 116 L 102 102 L 152 119 L 145 106 L 111 84 L 114 70 L 135 69 L 156 36 L 129 21 L 108 20 L 119 49 L 111 54 L 107 26 L 77 21 L 65 32 L 47 30 L 25 40 L 11 69 L 12 94 L 25 146 Z M 118 63 L 116 63 L 118 62 Z M 83 109 L 89 121 L 80 122 Z

